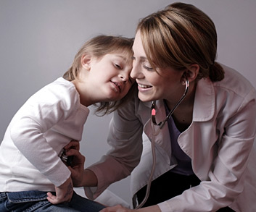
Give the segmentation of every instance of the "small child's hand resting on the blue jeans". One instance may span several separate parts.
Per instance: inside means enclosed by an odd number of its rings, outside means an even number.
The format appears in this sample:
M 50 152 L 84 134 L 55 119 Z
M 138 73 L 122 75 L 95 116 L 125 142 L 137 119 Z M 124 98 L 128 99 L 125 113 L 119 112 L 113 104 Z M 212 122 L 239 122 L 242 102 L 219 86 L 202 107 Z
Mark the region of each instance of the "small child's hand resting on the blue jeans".
M 65 183 L 60 185 L 59 187 L 55 187 L 56 196 L 48 192 L 47 200 L 49 200 L 52 204 L 70 202 L 73 196 L 73 183 L 71 177 L 69 177 Z

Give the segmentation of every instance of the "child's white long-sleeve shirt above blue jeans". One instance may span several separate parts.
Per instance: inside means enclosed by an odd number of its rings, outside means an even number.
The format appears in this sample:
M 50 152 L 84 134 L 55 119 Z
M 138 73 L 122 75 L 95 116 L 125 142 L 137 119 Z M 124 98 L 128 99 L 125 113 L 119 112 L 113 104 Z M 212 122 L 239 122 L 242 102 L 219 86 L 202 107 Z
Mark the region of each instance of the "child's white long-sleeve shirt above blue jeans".
M 0 145 L 0 192 L 54 191 L 70 170 L 58 154 L 81 140 L 89 109 L 72 82 L 59 77 L 39 90 L 12 118 Z

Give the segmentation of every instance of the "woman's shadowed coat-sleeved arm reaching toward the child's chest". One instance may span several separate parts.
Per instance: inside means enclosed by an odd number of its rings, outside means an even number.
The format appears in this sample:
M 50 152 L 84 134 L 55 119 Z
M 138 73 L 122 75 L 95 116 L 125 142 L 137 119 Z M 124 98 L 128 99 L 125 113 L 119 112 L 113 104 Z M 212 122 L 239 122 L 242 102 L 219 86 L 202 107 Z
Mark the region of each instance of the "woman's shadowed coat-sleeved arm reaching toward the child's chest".
M 91 199 L 100 195 L 113 182 L 128 177 L 141 158 L 143 124 L 134 101 L 114 112 L 109 129 L 107 142 L 110 151 L 96 164 L 87 168 L 98 179 L 94 190 L 85 187 L 86 195 Z

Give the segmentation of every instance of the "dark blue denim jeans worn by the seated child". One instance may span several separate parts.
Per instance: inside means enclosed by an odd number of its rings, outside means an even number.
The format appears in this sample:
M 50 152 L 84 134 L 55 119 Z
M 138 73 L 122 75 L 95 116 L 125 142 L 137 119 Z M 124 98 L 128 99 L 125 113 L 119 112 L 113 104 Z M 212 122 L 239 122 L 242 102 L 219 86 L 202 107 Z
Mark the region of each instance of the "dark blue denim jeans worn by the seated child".
M 104 205 L 82 198 L 75 192 L 70 203 L 51 204 L 47 192 L 0 192 L 0 211 L 88 211 L 98 212 Z

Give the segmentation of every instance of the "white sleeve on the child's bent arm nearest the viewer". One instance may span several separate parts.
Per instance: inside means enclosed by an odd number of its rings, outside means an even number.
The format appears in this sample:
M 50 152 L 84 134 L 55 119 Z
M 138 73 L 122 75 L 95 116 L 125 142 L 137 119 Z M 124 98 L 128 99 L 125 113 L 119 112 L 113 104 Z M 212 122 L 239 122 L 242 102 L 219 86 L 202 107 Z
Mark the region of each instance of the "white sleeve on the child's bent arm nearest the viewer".
M 74 88 L 51 83 L 31 96 L 12 119 L 10 134 L 13 142 L 22 155 L 57 187 L 70 177 L 70 171 L 44 133 L 72 115 L 78 105 L 79 97 Z

